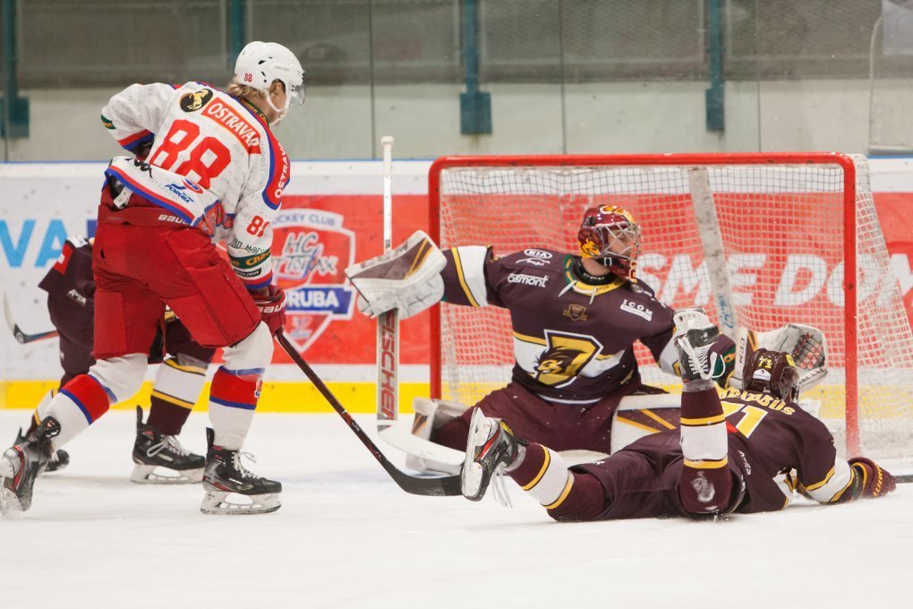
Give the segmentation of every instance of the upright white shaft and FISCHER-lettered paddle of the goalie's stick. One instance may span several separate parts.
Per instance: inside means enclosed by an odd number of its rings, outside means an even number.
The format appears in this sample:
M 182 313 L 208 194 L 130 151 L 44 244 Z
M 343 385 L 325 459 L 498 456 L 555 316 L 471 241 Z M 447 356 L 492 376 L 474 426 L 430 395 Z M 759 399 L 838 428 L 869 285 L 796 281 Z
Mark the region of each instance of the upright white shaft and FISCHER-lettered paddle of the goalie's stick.
M 384 135 L 383 147 L 383 253 L 393 248 L 393 150 L 394 138 Z M 399 418 L 399 312 L 377 316 L 377 431 L 383 432 Z M 381 434 L 383 437 L 383 434 Z

